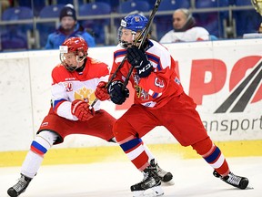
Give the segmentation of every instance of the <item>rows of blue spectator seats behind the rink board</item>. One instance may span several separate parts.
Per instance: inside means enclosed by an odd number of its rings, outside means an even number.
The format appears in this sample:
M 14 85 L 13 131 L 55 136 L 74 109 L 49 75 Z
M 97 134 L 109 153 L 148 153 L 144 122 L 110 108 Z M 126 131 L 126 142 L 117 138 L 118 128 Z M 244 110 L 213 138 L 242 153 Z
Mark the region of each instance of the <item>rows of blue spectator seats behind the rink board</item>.
M 73 4 L 79 23 L 91 32 L 97 46 L 116 45 L 120 19 L 131 12 L 149 16 L 155 0 L 16 0 L 1 12 L 0 51 L 43 49 L 47 36 L 59 26 L 59 12 Z M 154 19 L 152 35 L 159 40 L 172 29 L 177 8 L 190 9 L 197 26 L 218 39 L 256 33 L 262 22 L 250 0 L 162 0 Z

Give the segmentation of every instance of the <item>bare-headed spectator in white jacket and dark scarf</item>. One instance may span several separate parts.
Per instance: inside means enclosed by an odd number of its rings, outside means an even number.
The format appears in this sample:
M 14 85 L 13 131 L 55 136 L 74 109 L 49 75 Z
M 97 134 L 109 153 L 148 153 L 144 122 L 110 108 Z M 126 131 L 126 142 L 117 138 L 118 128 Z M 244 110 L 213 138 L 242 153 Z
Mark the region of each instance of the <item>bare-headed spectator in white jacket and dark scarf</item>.
M 173 14 L 173 28 L 161 37 L 160 43 L 209 40 L 207 29 L 196 26 L 194 17 L 187 9 L 175 10 Z

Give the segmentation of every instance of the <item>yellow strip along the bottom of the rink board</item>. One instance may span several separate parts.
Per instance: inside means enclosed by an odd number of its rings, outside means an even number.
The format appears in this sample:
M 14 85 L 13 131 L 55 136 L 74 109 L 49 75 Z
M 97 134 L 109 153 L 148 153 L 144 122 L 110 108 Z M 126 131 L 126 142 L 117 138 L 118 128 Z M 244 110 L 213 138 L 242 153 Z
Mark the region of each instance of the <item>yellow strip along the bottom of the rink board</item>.
M 226 157 L 262 156 L 262 140 L 216 142 Z M 199 159 L 191 147 L 179 144 L 150 144 L 148 148 L 154 155 L 174 155 L 182 159 Z M 20 166 L 25 160 L 27 151 L 0 152 L 0 167 Z M 126 155 L 117 145 L 51 149 L 45 155 L 44 165 L 93 163 L 100 161 L 126 161 Z

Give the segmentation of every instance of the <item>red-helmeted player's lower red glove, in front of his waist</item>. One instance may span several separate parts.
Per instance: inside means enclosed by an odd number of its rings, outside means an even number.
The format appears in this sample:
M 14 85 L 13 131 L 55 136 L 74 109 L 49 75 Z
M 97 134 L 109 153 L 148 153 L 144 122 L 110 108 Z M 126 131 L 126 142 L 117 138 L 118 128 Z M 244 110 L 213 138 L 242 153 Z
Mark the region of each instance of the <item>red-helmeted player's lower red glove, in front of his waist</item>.
M 95 114 L 94 109 L 89 109 L 88 103 L 81 99 L 76 99 L 72 102 L 71 112 L 80 121 L 87 121 L 93 118 Z

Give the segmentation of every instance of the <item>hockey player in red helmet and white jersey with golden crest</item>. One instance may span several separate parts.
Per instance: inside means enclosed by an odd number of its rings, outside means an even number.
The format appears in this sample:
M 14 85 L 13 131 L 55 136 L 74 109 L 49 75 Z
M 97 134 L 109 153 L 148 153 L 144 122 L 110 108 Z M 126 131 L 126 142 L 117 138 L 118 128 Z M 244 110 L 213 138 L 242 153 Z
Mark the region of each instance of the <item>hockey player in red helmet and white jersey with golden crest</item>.
M 31 143 L 21 168 L 21 178 L 7 191 L 9 196 L 16 197 L 25 192 L 45 153 L 53 145 L 62 143 L 67 135 L 86 134 L 116 142 L 112 132 L 116 119 L 100 109 L 99 101 L 94 109 L 89 108 L 88 103 L 96 97 L 109 99 L 103 91 L 95 96 L 96 86 L 108 78 L 109 70 L 105 63 L 87 57 L 87 49 L 86 41 L 80 37 L 71 37 L 60 47 L 61 64 L 52 71 L 52 106 Z M 157 169 L 159 179 L 172 181 L 170 172 L 163 171 L 158 165 Z

